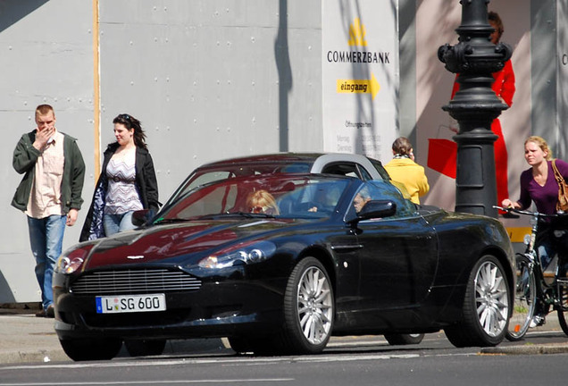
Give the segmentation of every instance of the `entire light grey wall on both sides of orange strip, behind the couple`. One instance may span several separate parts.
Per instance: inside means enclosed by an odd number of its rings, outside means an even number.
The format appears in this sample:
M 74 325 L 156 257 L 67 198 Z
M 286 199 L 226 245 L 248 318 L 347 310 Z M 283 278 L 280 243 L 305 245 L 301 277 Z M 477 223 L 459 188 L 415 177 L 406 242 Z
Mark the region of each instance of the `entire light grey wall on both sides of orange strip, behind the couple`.
M 54 105 L 57 128 L 79 138 L 87 164 L 68 248 L 119 113 L 146 130 L 162 201 L 214 159 L 321 151 L 321 13 L 319 1 L 298 0 L 0 1 L 0 303 L 39 299 L 25 216 L 9 206 L 21 180 L 13 147 L 35 128 L 36 105 Z

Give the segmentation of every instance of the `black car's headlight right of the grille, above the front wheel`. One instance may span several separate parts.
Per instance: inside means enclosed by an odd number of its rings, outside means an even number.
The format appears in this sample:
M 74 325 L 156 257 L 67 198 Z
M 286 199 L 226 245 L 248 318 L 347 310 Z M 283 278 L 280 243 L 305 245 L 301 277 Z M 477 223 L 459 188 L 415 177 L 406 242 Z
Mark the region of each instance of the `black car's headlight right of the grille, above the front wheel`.
M 274 251 L 276 251 L 276 246 L 270 241 L 239 244 L 205 257 L 199 262 L 199 266 L 219 269 L 239 264 L 260 263 L 271 257 Z

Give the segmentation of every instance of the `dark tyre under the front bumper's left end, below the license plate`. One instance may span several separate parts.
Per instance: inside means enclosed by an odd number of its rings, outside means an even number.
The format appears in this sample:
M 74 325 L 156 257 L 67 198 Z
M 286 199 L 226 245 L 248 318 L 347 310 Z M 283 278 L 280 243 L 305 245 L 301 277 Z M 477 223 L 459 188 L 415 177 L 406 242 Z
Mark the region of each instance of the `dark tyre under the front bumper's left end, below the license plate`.
M 119 339 L 71 339 L 59 342 L 67 357 L 76 362 L 113 359 L 122 347 L 122 340 Z

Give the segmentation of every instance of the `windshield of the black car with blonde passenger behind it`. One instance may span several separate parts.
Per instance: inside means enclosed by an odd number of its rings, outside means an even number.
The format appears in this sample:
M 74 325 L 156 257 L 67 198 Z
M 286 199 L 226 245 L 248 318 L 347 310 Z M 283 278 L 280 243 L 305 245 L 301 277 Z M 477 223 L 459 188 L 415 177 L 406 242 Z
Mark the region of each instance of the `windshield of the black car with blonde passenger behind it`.
M 213 181 L 178 197 L 155 222 L 234 216 L 329 217 L 350 181 L 317 174 L 271 174 Z

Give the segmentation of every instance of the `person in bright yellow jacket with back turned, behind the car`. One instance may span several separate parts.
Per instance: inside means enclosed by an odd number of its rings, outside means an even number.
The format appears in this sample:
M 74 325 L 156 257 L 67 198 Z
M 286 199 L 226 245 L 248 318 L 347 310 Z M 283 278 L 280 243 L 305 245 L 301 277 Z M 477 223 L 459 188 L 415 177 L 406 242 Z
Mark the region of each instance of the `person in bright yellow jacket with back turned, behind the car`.
M 399 137 L 392 144 L 395 155 L 385 165 L 390 178 L 404 185 L 414 204 L 420 204 L 420 198 L 430 190 L 424 168 L 414 162 L 413 147 L 408 138 Z

